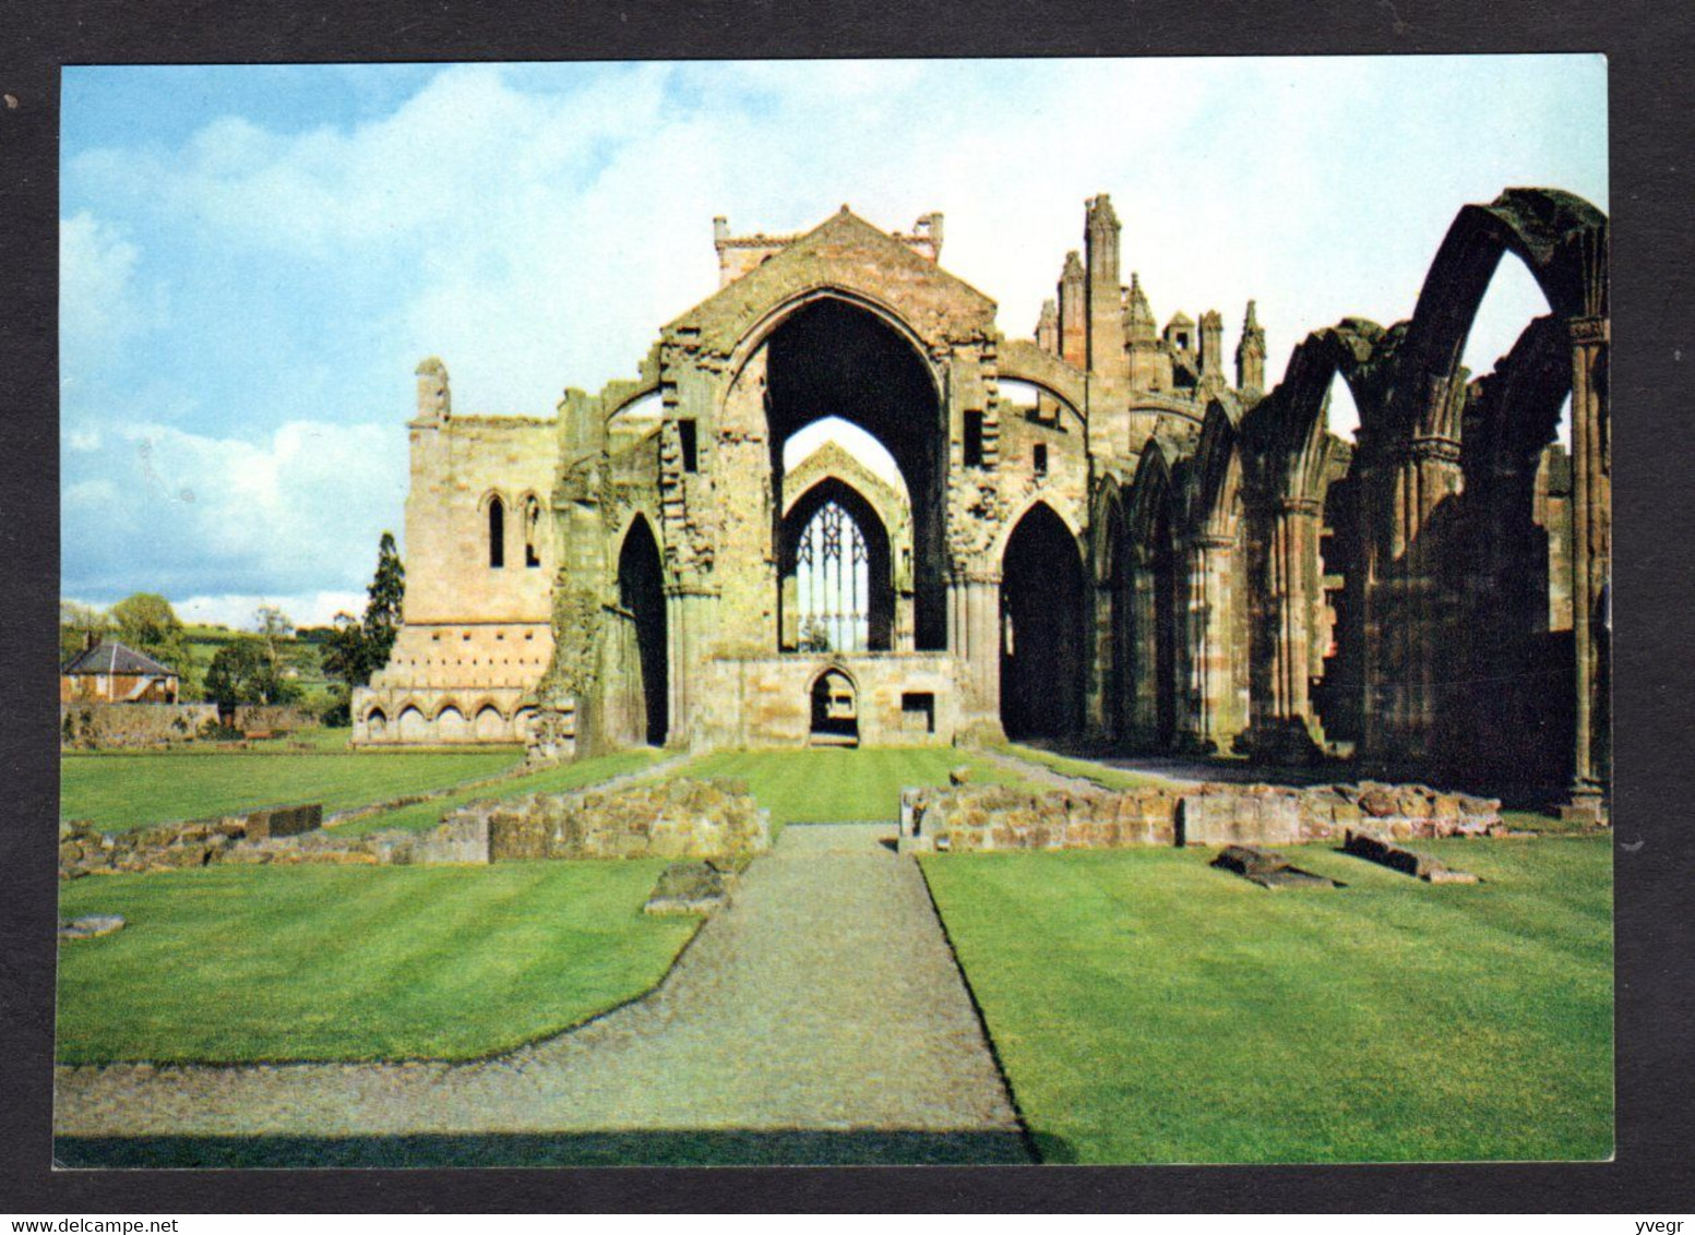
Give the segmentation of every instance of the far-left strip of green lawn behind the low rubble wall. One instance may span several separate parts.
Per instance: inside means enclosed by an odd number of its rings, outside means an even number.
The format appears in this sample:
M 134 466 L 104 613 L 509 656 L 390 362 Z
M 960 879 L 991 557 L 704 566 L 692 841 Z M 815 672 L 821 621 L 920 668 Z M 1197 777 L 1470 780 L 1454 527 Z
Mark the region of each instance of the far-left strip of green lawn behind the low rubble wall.
M 303 801 L 324 811 L 439 789 L 514 766 L 515 749 L 453 754 L 136 754 L 64 756 L 59 818 L 129 828 Z

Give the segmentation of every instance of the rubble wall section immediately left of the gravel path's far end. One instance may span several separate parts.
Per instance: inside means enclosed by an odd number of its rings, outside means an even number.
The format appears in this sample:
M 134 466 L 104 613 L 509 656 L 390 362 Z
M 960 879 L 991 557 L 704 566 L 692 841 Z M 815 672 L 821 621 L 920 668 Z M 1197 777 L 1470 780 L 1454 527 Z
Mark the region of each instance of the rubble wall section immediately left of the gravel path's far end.
M 619 793 L 532 793 L 476 801 L 444 827 L 483 823 L 488 861 L 736 857 L 771 847 L 770 813 L 737 781 L 675 779 Z

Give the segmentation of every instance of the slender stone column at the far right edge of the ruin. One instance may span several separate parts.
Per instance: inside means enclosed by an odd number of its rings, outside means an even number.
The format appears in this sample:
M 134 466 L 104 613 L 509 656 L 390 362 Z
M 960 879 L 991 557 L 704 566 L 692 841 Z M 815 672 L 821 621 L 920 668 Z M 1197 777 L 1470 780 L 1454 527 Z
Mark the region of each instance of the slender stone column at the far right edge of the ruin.
M 1610 322 L 1571 322 L 1571 635 L 1576 649 L 1573 805 L 1600 817 L 1612 779 L 1605 612 L 1612 578 L 1612 444 L 1607 405 Z

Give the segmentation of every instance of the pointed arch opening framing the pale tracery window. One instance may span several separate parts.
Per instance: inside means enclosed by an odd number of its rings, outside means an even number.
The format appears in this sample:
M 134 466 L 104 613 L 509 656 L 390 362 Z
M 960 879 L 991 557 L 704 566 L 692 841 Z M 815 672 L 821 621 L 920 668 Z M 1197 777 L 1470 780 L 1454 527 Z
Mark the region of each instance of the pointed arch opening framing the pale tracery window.
M 895 630 L 888 530 L 825 476 L 783 518 L 783 651 L 886 652 Z

